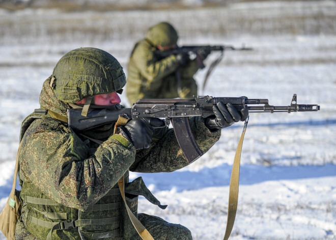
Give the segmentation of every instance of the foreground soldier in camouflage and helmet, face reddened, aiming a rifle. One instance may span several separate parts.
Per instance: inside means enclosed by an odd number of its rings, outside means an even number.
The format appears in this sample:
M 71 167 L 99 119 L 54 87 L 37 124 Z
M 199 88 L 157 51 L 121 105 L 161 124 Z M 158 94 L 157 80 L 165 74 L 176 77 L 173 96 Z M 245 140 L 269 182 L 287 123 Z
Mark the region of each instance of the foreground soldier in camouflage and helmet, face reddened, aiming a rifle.
M 141 239 L 127 213 L 118 180 L 125 176 L 127 205 L 155 239 L 191 239 L 190 231 L 161 218 L 137 214 L 137 195 L 161 208 L 141 177 L 128 171 L 172 172 L 188 165 L 173 129 L 157 118 L 134 119 L 74 132 L 67 109 L 120 109 L 126 84 L 119 62 L 97 48 L 78 48 L 57 63 L 43 83 L 41 109 L 22 123 L 19 149 L 21 218 L 15 239 Z M 220 128 L 244 120 L 248 112 L 218 103 L 215 115 L 190 119 L 205 152 Z M 158 128 L 155 128 L 158 129 Z M 163 130 L 162 130 L 163 129 Z

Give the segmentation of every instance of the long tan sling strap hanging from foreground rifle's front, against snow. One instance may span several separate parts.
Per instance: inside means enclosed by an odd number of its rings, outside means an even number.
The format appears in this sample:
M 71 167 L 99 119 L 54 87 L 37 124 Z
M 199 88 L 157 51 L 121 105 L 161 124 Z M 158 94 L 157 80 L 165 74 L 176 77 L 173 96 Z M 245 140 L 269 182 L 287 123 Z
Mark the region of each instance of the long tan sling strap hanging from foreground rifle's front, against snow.
M 240 156 L 247 123 L 248 123 L 248 117 L 245 120 L 244 129 L 243 132 L 241 133 L 241 137 L 236 150 L 235 159 L 233 161 L 231 180 L 230 180 L 230 190 L 229 190 L 228 221 L 223 240 L 229 239 L 229 236 L 233 228 L 233 224 L 235 223 L 237 205 L 238 205 Z

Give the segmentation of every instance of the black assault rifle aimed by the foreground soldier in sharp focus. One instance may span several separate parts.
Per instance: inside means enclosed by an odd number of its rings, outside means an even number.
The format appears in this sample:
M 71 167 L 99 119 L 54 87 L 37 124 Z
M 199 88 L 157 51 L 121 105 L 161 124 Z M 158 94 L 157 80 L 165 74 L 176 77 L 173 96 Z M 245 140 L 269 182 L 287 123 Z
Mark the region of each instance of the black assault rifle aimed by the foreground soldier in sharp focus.
M 214 115 L 213 105 L 222 101 L 232 103 L 236 109 L 247 108 L 249 113 L 311 112 L 320 110 L 317 104 L 297 104 L 293 95 L 291 105 L 273 106 L 268 99 L 248 99 L 247 97 L 195 96 L 192 99 L 139 99 L 132 108 L 120 110 L 94 109 L 87 117 L 81 116 L 81 109 L 68 109 L 68 125 L 75 131 L 83 131 L 107 123 L 116 122 L 120 115 L 128 119 L 164 118 L 166 125 L 173 124 L 177 141 L 189 163 L 203 155 L 192 135 L 189 117 Z M 257 106 L 255 106 L 257 104 Z M 260 105 L 263 104 L 263 105 Z

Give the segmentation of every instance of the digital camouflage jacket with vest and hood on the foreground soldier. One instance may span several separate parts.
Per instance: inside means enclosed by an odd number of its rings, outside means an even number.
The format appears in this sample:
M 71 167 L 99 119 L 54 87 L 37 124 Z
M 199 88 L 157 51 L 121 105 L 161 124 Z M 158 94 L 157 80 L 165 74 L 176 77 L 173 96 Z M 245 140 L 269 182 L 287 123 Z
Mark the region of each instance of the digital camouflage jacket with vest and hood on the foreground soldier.
M 67 117 L 70 106 L 55 97 L 50 79 L 43 84 L 41 107 Z M 19 152 L 22 213 L 16 239 L 139 239 L 125 213 L 117 181 L 126 173 L 128 182 L 128 169 L 151 173 L 185 167 L 187 161 L 173 129 L 166 129 L 149 149 L 136 151 L 119 135 L 97 134 L 104 140 L 98 145 L 48 113 L 30 121 L 32 116 L 23 121 L 29 127 Z M 190 123 L 204 152 L 218 141 L 220 130 L 210 131 L 200 118 L 192 118 Z M 95 136 L 94 132 L 85 134 Z M 135 216 L 136 195 L 161 206 L 141 178 L 127 183 L 126 190 Z

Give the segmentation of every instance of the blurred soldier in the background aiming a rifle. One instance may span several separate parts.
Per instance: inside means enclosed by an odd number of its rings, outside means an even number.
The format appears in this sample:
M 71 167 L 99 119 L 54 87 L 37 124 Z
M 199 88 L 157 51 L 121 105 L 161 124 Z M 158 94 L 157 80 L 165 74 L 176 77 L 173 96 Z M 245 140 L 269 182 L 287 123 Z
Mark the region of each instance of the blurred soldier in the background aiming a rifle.
M 178 34 L 167 22 L 152 26 L 146 38 L 137 42 L 127 66 L 126 94 L 130 104 L 141 98 L 192 98 L 197 95 L 193 75 L 200 68 L 187 53 L 159 59 L 155 50 L 177 47 Z M 199 52 L 200 60 L 210 51 Z

